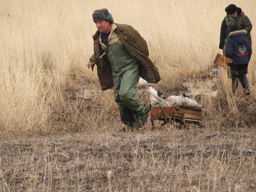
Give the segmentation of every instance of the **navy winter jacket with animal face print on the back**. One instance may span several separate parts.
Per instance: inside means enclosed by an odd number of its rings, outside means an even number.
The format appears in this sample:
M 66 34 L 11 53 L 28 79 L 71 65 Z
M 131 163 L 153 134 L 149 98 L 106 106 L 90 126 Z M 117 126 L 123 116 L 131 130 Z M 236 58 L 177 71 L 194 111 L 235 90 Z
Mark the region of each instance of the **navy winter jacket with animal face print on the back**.
M 225 56 L 234 60 L 229 64 L 230 67 L 248 64 L 250 61 L 252 47 L 245 35 L 245 30 L 233 31 L 229 34 L 230 39 L 225 46 Z

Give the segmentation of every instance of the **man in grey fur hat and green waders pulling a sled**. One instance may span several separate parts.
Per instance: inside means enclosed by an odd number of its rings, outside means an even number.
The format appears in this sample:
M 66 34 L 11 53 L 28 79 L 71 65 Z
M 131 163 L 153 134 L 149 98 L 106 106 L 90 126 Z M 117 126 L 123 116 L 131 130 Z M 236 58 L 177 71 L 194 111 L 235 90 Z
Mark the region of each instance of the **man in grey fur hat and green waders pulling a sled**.
M 160 81 L 157 68 L 148 58 L 147 42 L 131 26 L 114 23 L 105 8 L 94 11 L 93 21 L 98 30 L 93 35 L 94 54 L 87 66 L 93 70 L 97 65 L 102 90 L 114 86 L 121 121 L 127 125 L 120 130 L 139 130 L 149 112 L 136 95 L 139 77 L 148 83 Z

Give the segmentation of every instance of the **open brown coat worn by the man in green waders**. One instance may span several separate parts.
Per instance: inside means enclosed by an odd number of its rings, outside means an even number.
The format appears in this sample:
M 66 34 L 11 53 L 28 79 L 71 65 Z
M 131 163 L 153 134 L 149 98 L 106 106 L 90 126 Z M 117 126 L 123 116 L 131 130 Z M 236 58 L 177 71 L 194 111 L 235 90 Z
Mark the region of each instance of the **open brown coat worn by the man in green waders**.
M 148 83 L 159 82 L 160 75 L 157 67 L 148 58 L 149 52 L 146 40 L 141 37 L 138 31 L 133 29 L 133 27 L 125 24 L 114 24 L 117 26 L 115 31 L 122 44 L 125 46 L 127 51 L 140 62 L 140 76 Z M 104 55 L 102 59 L 99 59 L 99 57 L 104 53 L 99 42 L 100 34 L 99 30 L 97 30 L 93 35 L 94 55 L 101 89 L 107 90 L 113 87 L 114 84 L 112 69 L 110 67 L 108 57 Z

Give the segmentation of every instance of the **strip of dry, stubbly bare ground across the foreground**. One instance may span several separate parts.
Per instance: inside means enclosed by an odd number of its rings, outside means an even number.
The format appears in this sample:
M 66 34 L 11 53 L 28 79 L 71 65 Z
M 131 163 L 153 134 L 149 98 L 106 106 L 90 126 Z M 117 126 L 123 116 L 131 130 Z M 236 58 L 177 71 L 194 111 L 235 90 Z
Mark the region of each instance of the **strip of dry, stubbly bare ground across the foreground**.
M 255 127 L 3 139 L 1 191 L 256 191 Z

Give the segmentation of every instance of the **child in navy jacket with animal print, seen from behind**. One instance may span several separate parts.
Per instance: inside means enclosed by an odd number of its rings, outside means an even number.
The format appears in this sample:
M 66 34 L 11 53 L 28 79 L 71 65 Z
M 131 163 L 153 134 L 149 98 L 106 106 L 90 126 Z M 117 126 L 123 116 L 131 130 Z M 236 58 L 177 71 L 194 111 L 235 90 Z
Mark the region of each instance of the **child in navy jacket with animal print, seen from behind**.
M 246 77 L 248 64 L 251 59 L 252 47 L 248 39 L 246 39 L 247 32 L 240 30 L 237 23 L 234 23 L 229 28 L 229 37 L 227 44 L 224 47 L 224 54 L 226 57 L 233 59 L 230 63 L 230 77 L 232 79 L 232 92 L 236 93 L 238 87 L 238 79 L 244 89 L 244 95 L 251 94 L 249 90 L 248 79 Z

